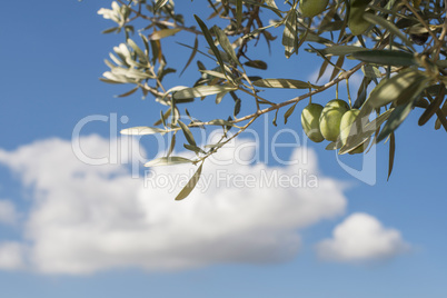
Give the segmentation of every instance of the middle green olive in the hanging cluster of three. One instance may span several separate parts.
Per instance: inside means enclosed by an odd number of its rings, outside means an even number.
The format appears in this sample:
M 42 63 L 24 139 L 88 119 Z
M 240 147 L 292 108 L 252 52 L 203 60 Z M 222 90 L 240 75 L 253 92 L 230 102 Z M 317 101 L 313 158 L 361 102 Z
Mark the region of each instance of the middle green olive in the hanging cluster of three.
M 349 110 L 348 103 L 340 99 L 330 100 L 321 111 L 320 131 L 328 141 L 336 141 L 340 135 L 341 117 Z

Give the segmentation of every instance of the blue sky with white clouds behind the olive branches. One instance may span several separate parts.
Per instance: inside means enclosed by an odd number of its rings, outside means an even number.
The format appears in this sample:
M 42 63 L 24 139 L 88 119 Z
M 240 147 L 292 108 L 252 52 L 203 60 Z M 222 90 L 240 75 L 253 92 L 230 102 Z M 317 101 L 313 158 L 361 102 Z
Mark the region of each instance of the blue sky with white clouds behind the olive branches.
M 188 14 L 200 1 L 178 2 Z M 97 14 L 101 7 L 109 8 L 110 2 L 3 3 L 8 12 L 0 29 L 4 297 L 445 297 L 447 143 L 445 131 L 433 129 L 433 120 L 417 126 L 420 111 L 397 131 L 395 170 L 388 182 L 388 146 L 377 147 L 374 186 L 347 173 L 321 143 L 278 150 L 282 160 L 301 160 L 298 166 L 275 160 L 268 148 L 275 133 L 298 131 L 302 143 L 299 112 L 305 103 L 297 106 L 287 126 L 279 118 L 278 128 L 272 127 L 270 116 L 267 135 L 262 119 L 255 123 L 261 131 L 258 147 L 252 147 L 250 133 L 236 143 L 235 148 L 258 148 L 261 158 L 252 165 L 219 168 L 210 162 L 203 171 L 206 177 L 225 169 L 259 179 L 261 172 L 290 176 L 301 168 L 318 177 L 314 189 L 212 186 L 177 203 L 176 186 L 171 193 L 145 188 L 143 179 L 132 179 L 127 162 L 80 162 L 71 148 L 80 120 L 116 115 L 118 130 L 151 126 L 162 108 L 140 95 L 115 98 L 130 88 L 98 80 L 107 70 L 103 59 L 122 41 L 121 36 L 100 34 L 111 26 Z M 207 17 L 205 10 L 195 13 Z M 187 33 L 178 38 L 192 42 Z M 183 50 L 173 43 L 165 49 L 172 64 Z M 279 46 L 272 51 L 282 53 Z M 257 54 L 271 60 L 264 46 Z M 210 60 L 200 60 L 212 67 Z M 300 50 L 299 59 L 281 56 L 269 63 L 268 76 L 308 80 L 319 63 Z M 170 74 L 167 86 L 192 85 L 195 69 L 191 64 L 180 78 Z M 297 95 L 266 92 L 272 101 Z M 314 101 L 325 103 L 334 96 L 334 90 L 327 91 Z M 340 97 L 346 93 L 340 91 Z M 232 110 L 226 99 L 216 109 L 210 97 L 190 111 L 203 120 L 212 119 L 211 113 L 225 117 L 221 111 Z M 249 105 L 242 106 L 246 111 Z M 122 116 L 127 123 L 119 121 Z M 113 137 L 110 121 L 92 121 L 81 130 L 81 146 L 89 155 L 103 157 Z M 291 132 L 279 140 L 291 142 Z M 118 143 L 138 147 L 129 138 Z M 158 153 L 155 143 L 153 137 L 140 140 L 148 158 Z M 224 150 L 222 157 L 235 150 Z M 120 153 L 130 155 L 125 149 Z M 360 157 L 341 160 L 355 168 L 361 162 Z M 189 168 L 157 169 L 152 177 L 181 173 L 189 173 Z

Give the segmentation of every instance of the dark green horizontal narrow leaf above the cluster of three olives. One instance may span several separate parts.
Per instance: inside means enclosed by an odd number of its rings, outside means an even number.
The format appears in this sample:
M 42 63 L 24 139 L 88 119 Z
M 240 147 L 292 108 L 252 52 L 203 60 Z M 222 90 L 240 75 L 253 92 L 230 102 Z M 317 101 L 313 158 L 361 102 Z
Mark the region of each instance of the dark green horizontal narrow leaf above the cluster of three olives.
M 352 53 L 352 57 L 368 63 L 381 66 L 410 67 L 416 64 L 413 53 L 390 50 L 368 50 Z

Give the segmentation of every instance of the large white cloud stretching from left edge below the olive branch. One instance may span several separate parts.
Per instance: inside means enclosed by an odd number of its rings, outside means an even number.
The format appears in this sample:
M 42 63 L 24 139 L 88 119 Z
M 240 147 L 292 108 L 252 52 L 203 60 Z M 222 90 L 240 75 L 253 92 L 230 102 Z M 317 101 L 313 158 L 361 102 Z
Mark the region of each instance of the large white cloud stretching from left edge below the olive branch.
M 110 151 L 109 141 L 97 136 L 83 137 L 81 145 L 97 157 Z M 344 189 L 318 172 L 311 150 L 296 149 L 292 159 L 300 165 L 288 167 L 217 165 L 234 161 L 237 152 L 248 160 L 255 147 L 247 145 L 222 148 L 213 162 L 205 162 L 202 179 L 183 201 L 173 198 L 193 166 L 153 168 L 146 179 L 135 179 L 126 165 L 79 161 L 71 142 L 61 139 L 0 150 L 0 162 L 34 193 L 22 231 L 28 268 L 178 270 L 295 257 L 299 229 L 344 213 Z

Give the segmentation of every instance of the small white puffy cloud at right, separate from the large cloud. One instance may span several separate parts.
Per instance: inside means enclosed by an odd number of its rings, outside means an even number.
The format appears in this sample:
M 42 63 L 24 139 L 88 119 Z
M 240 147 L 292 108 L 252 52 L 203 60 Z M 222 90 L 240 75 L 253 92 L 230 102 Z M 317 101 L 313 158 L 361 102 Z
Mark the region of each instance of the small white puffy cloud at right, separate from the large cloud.
M 366 213 L 349 216 L 334 229 L 332 239 L 317 246 L 320 258 L 347 262 L 387 259 L 408 249 L 398 230 Z

